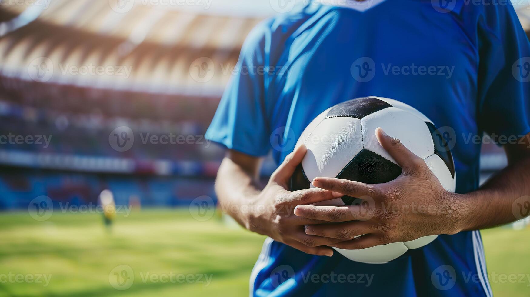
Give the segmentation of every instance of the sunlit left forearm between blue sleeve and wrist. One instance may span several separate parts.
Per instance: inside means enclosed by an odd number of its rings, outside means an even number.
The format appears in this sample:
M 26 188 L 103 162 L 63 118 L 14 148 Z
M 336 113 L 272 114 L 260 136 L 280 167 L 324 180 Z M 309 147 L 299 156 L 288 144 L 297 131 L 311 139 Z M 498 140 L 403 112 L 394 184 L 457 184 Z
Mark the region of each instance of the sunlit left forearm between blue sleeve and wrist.
M 215 181 L 215 191 L 221 210 L 247 229 L 250 228 L 250 213 L 245 211 L 249 208 L 245 206 L 253 205 L 262 189 L 258 174 L 252 171 L 225 158 Z

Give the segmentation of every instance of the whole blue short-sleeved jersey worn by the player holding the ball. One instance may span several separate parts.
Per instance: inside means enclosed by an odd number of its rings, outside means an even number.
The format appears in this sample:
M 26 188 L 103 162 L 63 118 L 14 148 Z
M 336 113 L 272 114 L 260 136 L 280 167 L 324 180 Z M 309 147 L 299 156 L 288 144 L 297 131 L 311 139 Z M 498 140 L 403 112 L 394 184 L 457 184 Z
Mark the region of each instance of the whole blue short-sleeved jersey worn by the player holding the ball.
M 258 25 L 207 138 L 254 156 L 272 151 L 279 163 L 325 109 L 392 98 L 453 129 L 456 191 L 477 189 L 476 135 L 530 132 L 530 46 L 514 8 L 509 1 L 366 3 L 311 3 Z M 440 235 L 387 264 L 307 255 L 267 239 L 250 289 L 258 296 L 492 295 L 478 231 Z

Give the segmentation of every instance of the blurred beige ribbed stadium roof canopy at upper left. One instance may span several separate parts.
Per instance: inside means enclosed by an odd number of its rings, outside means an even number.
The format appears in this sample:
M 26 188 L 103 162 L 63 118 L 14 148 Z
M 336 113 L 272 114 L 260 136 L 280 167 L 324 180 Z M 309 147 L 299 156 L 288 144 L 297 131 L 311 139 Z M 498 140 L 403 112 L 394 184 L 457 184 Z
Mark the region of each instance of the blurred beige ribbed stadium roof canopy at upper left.
M 193 0 L 197 5 L 191 7 L 177 0 L 119 6 L 129 3 L 122 1 L 3 1 L 1 74 L 96 89 L 218 97 L 245 37 L 267 14 L 248 10 L 241 1 L 235 2 L 239 12 L 219 2 L 224 10 L 199 5 L 213 5 L 209 0 Z M 213 77 L 194 77 L 190 71 L 205 62 Z M 51 68 L 52 75 L 35 77 L 39 67 Z M 94 75 L 96 67 L 101 73 Z

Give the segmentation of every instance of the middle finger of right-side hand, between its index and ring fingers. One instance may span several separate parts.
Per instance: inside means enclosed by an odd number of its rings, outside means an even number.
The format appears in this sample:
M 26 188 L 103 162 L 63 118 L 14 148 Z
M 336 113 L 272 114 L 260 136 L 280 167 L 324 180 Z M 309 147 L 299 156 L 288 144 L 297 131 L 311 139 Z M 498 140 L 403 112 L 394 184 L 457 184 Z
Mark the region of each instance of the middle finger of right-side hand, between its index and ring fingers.
M 347 222 L 358 220 L 354 213 L 357 213 L 356 206 L 316 206 L 297 205 L 295 215 L 306 217 L 307 219 L 322 220 L 328 222 Z

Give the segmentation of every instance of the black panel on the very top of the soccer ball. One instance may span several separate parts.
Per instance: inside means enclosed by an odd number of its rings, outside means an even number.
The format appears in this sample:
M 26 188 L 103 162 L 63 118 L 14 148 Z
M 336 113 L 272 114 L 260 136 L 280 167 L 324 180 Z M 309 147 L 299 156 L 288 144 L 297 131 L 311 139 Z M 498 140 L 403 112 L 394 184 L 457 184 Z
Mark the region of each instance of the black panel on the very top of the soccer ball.
M 335 107 L 328 112 L 328 115 L 326 115 L 326 119 L 335 117 L 361 119 L 387 107 L 392 106 L 387 102 L 374 97 L 357 98 L 335 105 Z

